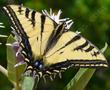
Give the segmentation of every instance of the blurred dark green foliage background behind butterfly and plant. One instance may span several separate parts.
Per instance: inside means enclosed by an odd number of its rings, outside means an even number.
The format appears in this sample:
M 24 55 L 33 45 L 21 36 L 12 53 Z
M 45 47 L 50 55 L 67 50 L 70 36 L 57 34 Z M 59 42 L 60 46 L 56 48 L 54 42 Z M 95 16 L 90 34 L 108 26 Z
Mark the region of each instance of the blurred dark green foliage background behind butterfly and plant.
M 0 7 L 7 4 L 18 4 L 18 0 L 0 0 Z M 105 42 L 108 48 L 104 53 L 110 63 L 110 0 L 23 0 L 26 7 L 40 11 L 52 8 L 54 12 L 63 11 L 62 18 L 69 17 L 74 21 L 72 31 L 80 31 L 81 35 L 90 40 L 99 49 Z M 0 11 L 0 22 L 6 26 L 0 29 L 0 34 L 9 35 L 10 23 L 8 18 Z M 7 38 L 0 38 L 0 42 L 6 43 Z M 6 46 L 0 46 L 0 65 L 6 67 Z M 85 90 L 110 90 L 110 68 L 97 69 Z M 48 80 L 46 84 L 41 80 L 38 90 L 62 90 L 74 77 L 77 69 L 70 68 L 63 73 L 62 79 L 57 77 L 54 81 Z M 43 84 L 43 85 L 42 85 Z M 8 79 L 0 73 L 0 90 L 11 90 L 12 85 Z

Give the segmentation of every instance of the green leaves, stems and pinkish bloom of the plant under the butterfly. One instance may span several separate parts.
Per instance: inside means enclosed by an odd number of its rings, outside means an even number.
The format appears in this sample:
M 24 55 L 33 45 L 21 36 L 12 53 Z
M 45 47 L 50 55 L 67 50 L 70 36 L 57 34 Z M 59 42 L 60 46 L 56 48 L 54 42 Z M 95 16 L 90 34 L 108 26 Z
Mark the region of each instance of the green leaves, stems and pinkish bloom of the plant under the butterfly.
M 0 23 L 0 28 L 5 28 L 3 23 Z M 6 35 L 0 35 L 0 37 L 7 37 Z M 1 45 L 2 43 L 0 43 Z M 9 36 L 7 39 L 7 68 L 0 65 L 0 72 L 5 75 L 9 81 L 13 84 L 14 90 L 36 90 L 37 86 L 35 77 L 24 75 L 26 63 L 23 61 L 23 57 L 19 54 L 16 55 L 19 45 L 15 42 L 13 36 Z M 105 44 L 101 49 L 102 53 L 107 48 Z M 93 68 L 80 68 L 75 76 L 64 87 L 64 90 L 84 90 L 89 80 L 93 76 L 95 69 Z M 21 79 L 22 77 L 22 79 Z

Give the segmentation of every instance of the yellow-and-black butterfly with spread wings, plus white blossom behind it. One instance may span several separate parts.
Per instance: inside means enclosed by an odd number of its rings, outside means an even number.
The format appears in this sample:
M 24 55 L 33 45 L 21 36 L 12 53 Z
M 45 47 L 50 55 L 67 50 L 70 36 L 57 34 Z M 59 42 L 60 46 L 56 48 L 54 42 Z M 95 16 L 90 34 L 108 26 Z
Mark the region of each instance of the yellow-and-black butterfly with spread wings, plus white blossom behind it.
M 26 72 L 34 76 L 59 73 L 69 67 L 107 67 L 101 51 L 78 32 L 69 31 L 73 21 L 58 14 L 42 13 L 17 5 L 3 10 L 12 22 L 12 32 L 27 63 Z

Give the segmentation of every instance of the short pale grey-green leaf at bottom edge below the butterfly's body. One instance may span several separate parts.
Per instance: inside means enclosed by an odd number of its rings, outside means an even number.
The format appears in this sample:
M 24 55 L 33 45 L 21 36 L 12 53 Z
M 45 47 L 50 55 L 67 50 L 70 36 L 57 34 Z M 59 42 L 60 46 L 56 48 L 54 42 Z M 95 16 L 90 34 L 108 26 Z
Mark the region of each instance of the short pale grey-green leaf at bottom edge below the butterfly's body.
M 33 77 L 24 77 L 23 85 L 22 85 L 22 90 L 33 90 L 34 87 L 34 78 Z

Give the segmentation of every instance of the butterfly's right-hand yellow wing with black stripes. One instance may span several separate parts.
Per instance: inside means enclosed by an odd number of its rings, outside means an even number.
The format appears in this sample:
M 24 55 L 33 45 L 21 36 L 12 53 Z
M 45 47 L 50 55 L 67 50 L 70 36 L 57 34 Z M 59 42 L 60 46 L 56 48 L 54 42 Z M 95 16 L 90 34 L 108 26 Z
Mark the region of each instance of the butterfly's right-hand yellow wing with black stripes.
M 107 66 L 105 57 L 93 44 L 71 31 L 64 33 L 46 54 L 46 65 L 62 62 L 83 67 Z

